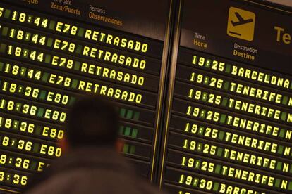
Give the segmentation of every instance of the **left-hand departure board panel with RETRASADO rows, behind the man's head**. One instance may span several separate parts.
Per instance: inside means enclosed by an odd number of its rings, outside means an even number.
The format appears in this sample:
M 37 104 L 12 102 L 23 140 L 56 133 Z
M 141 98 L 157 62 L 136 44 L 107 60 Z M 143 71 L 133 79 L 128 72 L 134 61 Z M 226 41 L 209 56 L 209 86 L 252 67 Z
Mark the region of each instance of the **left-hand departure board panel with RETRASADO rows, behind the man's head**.
M 56 141 L 66 135 L 68 109 L 87 93 L 116 102 L 121 153 L 152 179 L 168 8 L 168 1 L 0 2 L 0 193 L 21 192 L 62 155 Z

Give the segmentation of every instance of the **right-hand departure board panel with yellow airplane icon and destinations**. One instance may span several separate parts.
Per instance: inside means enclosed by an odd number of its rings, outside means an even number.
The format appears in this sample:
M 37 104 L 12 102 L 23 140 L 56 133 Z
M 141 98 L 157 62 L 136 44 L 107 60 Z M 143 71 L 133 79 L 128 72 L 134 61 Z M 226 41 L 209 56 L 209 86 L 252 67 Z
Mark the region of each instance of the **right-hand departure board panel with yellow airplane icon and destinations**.
M 292 12 L 257 1 L 178 7 L 160 185 L 292 193 Z

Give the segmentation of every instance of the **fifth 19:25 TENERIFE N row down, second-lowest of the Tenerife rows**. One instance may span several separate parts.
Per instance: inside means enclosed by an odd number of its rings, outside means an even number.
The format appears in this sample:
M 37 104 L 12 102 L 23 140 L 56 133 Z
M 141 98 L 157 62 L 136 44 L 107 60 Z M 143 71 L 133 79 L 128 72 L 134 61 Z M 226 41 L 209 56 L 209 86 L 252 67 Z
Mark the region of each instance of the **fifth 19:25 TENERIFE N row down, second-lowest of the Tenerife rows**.
M 172 130 L 170 133 L 169 147 L 176 148 L 185 153 L 190 152 L 246 167 L 255 167 L 256 169 L 267 171 L 267 173 L 272 172 L 289 176 L 292 172 L 291 160 L 286 158 L 274 157 L 222 142 L 187 136 L 187 134 L 179 134 L 179 131 L 175 130 Z

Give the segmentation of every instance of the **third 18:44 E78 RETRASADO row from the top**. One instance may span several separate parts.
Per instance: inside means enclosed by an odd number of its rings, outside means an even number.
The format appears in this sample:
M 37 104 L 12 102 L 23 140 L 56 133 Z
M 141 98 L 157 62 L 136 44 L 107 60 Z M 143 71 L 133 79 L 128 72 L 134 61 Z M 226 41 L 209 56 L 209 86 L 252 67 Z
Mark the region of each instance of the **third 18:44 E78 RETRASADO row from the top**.
M 3 27 L 5 29 L 5 27 Z M 3 33 L 2 33 L 3 34 Z M 5 48 L 3 48 L 5 49 Z M 12 48 L 10 48 L 12 49 Z M 19 50 L 20 48 L 18 48 Z M 16 51 L 17 52 L 17 51 Z M 21 52 L 21 51 L 18 51 Z M 29 52 L 29 51 L 27 51 Z M 20 53 L 11 53 L 8 51 L 9 55 L 18 56 Z M 30 58 L 37 58 L 37 61 L 47 63 L 51 65 L 51 68 L 58 69 L 62 67 L 62 70 L 67 70 L 68 72 L 78 73 L 80 75 L 99 78 L 108 80 L 111 82 L 117 82 L 122 84 L 127 84 L 130 86 L 142 87 L 149 89 L 150 91 L 158 88 L 158 78 L 150 75 L 145 75 L 143 73 L 137 75 L 137 72 L 133 70 L 122 70 L 121 67 L 112 66 L 96 63 L 88 60 L 73 60 L 72 58 L 65 58 L 60 56 L 59 53 L 56 55 L 47 54 L 47 52 L 42 53 L 42 56 L 37 55 L 37 53 L 32 52 L 29 55 Z M 151 86 L 151 87 L 150 87 Z

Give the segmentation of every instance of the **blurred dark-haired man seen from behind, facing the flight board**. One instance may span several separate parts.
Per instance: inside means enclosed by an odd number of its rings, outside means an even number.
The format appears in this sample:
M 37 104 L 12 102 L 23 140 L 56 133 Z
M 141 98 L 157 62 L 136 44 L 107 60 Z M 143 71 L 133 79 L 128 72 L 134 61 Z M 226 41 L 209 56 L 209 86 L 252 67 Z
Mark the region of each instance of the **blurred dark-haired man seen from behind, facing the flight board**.
M 116 151 L 118 113 L 104 98 L 73 105 L 60 145 L 64 154 L 28 183 L 26 193 L 159 193 Z

